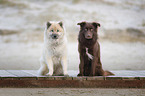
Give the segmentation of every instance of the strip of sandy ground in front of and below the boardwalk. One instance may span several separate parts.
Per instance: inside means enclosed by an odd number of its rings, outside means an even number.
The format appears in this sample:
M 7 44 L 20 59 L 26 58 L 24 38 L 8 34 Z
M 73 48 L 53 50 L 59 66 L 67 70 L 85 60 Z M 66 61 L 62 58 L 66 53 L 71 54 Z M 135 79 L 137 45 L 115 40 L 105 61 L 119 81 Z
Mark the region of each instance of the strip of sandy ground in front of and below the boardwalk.
M 0 88 L 0 96 L 145 96 L 145 89 Z

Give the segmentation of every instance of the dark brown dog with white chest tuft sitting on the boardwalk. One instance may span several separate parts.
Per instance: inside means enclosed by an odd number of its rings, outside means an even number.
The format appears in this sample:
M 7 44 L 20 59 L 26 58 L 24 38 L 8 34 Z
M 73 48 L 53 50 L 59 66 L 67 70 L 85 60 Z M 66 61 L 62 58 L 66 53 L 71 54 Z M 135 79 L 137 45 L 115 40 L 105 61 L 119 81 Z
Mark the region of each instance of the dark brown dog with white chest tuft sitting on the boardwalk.
M 78 37 L 78 51 L 80 54 L 80 73 L 78 76 L 107 76 L 114 75 L 102 69 L 100 60 L 100 45 L 97 41 L 99 23 L 81 22 Z

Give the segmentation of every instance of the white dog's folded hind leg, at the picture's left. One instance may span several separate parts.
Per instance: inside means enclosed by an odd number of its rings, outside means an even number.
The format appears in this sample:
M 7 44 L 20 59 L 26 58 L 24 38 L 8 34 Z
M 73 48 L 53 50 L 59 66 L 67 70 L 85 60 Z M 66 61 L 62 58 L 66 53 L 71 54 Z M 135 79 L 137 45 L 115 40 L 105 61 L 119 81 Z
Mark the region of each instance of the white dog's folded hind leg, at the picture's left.
M 46 71 L 48 71 L 47 65 L 42 57 L 40 58 L 39 62 L 40 62 L 40 68 L 38 70 L 38 75 L 45 75 Z

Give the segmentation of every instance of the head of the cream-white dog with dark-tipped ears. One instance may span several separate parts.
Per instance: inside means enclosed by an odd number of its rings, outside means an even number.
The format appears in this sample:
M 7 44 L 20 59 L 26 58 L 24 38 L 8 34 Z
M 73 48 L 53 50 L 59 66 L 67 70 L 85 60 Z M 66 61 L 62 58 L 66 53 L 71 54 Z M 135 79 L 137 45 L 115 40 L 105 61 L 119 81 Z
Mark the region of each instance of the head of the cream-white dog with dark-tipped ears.
M 47 22 L 45 31 L 47 38 L 53 40 L 61 39 L 65 34 L 62 22 Z

